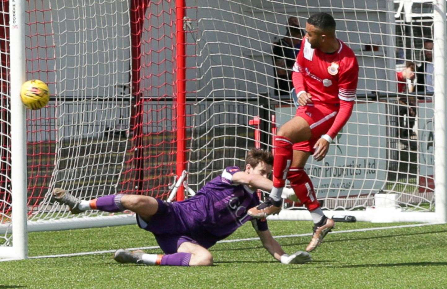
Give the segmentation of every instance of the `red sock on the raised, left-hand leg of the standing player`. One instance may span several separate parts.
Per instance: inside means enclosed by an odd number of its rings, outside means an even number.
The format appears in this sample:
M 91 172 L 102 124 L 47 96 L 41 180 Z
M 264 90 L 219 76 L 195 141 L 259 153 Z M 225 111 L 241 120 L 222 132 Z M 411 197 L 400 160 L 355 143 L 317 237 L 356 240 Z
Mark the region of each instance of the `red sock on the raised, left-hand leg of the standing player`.
M 275 201 L 281 200 L 292 157 L 293 144 L 291 140 L 285 136 L 277 136 L 275 138 L 275 155 L 273 160 L 273 189 L 270 192 L 270 198 Z

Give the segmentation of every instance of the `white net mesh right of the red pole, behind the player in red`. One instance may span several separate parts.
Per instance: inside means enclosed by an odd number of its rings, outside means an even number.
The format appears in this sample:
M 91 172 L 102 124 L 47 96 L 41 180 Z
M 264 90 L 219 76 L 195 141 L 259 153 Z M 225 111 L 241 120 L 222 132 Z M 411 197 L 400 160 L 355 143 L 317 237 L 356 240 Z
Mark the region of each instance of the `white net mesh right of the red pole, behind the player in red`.
M 422 46 L 432 39 L 432 4 L 414 4 L 407 23 L 409 11 L 396 14 L 399 3 L 387 0 L 196 3 L 200 20 L 191 186 L 200 188 L 225 166 L 243 167 L 258 129 L 261 147 L 272 149 L 275 127 L 296 110 L 287 80 L 295 62 L 290 52 L 295 43 L 289 37 L 299 28 L 288 29 L 296 22 L 304 28 L 312 14 L 327 12 L 337 22 L 337 38 L 357 56 L 360 72 L 349 122 L 325 159 L 311 157 L 305 168 L 317 198 L 323 208 L 354 209 L 374 205 L 375 194 L 396 193 L 399 205 L 407 209 L 433 210 L 432 97 L 424 91 L 428 85 L 417 85 L 415 94 L 404 83 L 404 91 L 398 92 L 396 79 L 405 61 L 419 68 L 427 60 Z M 278 48 L 283 55 L 275 53 Z M 281 73 L 286 88 L 275 83 Z M 428 74 L 419 73 L 418 78 Z M 259 124 L 250 125 L 256 116 Z

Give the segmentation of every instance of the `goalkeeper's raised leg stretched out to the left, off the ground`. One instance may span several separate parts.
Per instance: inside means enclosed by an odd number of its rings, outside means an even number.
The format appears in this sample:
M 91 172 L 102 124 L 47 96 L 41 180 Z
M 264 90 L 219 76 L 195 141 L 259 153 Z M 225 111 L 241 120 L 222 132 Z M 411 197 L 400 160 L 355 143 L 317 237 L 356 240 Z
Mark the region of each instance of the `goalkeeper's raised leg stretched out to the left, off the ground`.
M 158 210 L 157 200 L 145 195 L 117 194 L 105 195 L 93 200 L 80 200 L 61 188 L 55 188 L 53 195 L 59 203 L 66 204 L 73 214 L 87 210 L 103 212 L 130 210 L 137 213 L 143 220 L 148 220 Z

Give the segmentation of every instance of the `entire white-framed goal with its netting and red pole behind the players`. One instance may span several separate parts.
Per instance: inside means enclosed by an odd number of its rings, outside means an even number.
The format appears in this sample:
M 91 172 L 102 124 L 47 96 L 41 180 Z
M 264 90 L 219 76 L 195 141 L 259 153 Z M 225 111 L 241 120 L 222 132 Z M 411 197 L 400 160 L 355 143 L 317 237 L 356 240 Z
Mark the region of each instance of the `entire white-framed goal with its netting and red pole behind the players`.
M 327 157 L 305 168 L 325 214 L 447 222 L 445 0 L 1 5 L 0 258 L 27 258 L 28 232 L 135 224 L 130 212 L 72 215 L 55 187 L 84 200 L 122 192 L 178 201 L 243 166 L 249 149 L 271 151 L 296 110 L 275 86 L 294 58 L 283 65 L 273 49 L 293 51 L 281 40 L 289 17 L 303 28 L 317 12 L 333 15 L 360 67 L 350 120 Z M 396 72 L 425 65 L 428 40 L 434 92 L 398 92 Z M 42 110 L 20 102 L 29 79 L 50 87 Z M 269 218 L 311 220 L 290 201 Z

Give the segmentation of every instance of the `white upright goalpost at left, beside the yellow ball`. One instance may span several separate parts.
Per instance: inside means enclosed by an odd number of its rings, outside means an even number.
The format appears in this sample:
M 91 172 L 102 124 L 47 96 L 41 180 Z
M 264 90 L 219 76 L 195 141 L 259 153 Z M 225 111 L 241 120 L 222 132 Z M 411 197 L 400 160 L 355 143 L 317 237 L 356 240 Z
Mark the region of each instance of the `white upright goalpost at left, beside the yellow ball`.
M 10 43 L 13 49 L 10 50 L 9 81 L 11 95 L 11 186 L 14 188 L 14 195 L 11 206 L 14 208 L 11 213 L 12 222 L 8 222 L 8 229 L 14 230 L 13 240 L 6 235 L 7 243 L 12 246 L 0 246 L 0 256 L 12 259 L 25 259 L 28 256 L 28 235 L 27 235 L 27 207 L 26 207 L 26 118 L 25 107 L 20 100 L 20 87 L 25 82 L 25 21 L 24 7 L 22 1 L 10 1 L 9 27 L 11 27 Z M 2 119 L 2 121 L 5 121 Z M 2 149 L 6 149 L 6 143 L 2 143 Z M 2 216 L 3 220 L 3 216 Z M 12 225 L 12 228 L 11 228 Z M 8 238 L 9 237 L 9 238 Z

